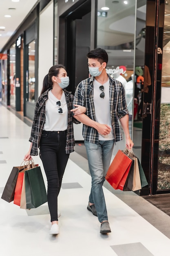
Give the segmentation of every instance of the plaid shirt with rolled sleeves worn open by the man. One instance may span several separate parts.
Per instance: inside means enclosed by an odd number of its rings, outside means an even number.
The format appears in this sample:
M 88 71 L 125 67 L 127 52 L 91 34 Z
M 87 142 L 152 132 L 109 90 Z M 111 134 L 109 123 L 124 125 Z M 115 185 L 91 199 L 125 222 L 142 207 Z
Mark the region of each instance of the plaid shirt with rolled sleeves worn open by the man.
M 118 119 L 129 114 L 123 85 L 111 78 L 109 78 L 109 104 L 110 104 L 110 118 L 113 128 L 113 134 L 115 136 L 115 142 L 120 141 L 123 137 L 121 130 L 119 128 Z M 86 107 L 86 115 L 95 120 L 95 106 L 94 106 L 94 97 L 93 97 L 93 80 L 94 76 L 87 78 L 79 83 L 76 88 L 73 104 L 78 104 Z M 99 141 L 99 135 L 95 128 L 83 125 L 83 137 L 84 140 L 91 143 L 97 144 Z

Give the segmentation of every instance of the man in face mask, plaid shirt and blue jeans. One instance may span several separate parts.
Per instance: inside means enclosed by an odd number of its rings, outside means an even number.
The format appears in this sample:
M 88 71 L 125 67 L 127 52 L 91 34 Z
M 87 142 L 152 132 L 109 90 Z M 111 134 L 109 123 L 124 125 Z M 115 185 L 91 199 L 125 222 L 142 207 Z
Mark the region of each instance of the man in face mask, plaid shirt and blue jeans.
M 102 186 L 110 166 L 113 146 L 122 139 L 118 119 L 126 136 L 126 147 L 131 149 L 133 142 L 128 128 L 124 87 L 106 73 L 108 54 L 104 49 L 97 48 L 89 52 L 87 58 L 91 77 L 79 83 L 73 101 L 74 106 L 85 106 L 86 114 L 77 115 L 78 110 L 71 111 L 84 124 L 84 145 L 92 177 L 87 209 L 98 216 L 100 233 L 106 234 L 111 230 Z

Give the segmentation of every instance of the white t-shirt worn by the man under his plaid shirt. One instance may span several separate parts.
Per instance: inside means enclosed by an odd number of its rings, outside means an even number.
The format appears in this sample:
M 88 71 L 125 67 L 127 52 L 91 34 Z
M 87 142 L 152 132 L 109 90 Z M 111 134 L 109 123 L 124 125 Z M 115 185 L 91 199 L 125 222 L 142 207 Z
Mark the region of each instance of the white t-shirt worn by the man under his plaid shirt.
M 96 121 L 99 124 L 107 124 L 111 126 L 111 117 L 110 117 L 110 104 L 109 104 L 109 79 L 106 83 L 103 84 L 104 86 L 104 98 L 100 98 L 100 94 L 102 91 L 99 89 L 99 86 L 102 84 L 97 82 L 94 79 L 93 82 L 93 93 L 94 93 L 94 105 L 95 105 L 95 117 Z M 113 129 L 108 135 L 101 135 L 99 134 L 99 140 L 111 140 L 114 139 Z

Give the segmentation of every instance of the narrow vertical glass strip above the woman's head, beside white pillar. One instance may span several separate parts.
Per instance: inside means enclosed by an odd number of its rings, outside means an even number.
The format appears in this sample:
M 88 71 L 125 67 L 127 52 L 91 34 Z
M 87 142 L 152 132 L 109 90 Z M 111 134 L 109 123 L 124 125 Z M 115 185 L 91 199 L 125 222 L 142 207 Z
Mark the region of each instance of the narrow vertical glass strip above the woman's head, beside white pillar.
M 57 15 L 58 15 L 58 3 L 55 0 L 55 4 L 54 4 L 54 65 L 56 65 L 58 63 L 58 59 L 57 59 Z

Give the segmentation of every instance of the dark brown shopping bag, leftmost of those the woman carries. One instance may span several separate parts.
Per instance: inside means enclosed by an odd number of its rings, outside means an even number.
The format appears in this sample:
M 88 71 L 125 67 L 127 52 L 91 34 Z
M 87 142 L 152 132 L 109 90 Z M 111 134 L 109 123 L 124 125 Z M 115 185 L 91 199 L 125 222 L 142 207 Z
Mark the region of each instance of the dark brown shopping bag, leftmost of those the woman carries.
M 23 162 L 22 162 L 23 163 Z M 7 180 L 7 183 L 4 187 L 4 191 L 2 193 L 2 199 L 7 201 L 7 202 L 12 202 L 14 198 L 14 193 L 15 193 L 15 186 L 18 178 L 18 173 L 20 171 L 23 171 L 26 168 L 26 165 L 22 166 L 22 163 L 20 166 L 15 166 L 12 168 L 12 171 L 9 175 L 9 178 Z

